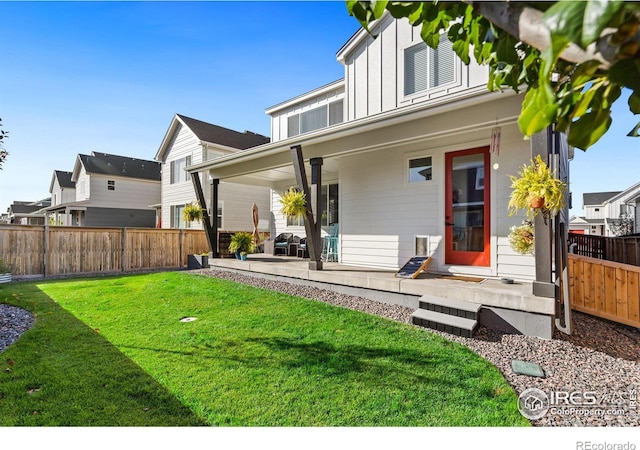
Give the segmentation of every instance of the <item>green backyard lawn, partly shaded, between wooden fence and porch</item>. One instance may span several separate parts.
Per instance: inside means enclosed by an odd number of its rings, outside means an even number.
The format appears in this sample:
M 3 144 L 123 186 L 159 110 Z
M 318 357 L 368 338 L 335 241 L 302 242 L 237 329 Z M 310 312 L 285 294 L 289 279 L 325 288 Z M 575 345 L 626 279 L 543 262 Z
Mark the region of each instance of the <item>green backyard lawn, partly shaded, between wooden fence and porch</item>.
M 185 273 L 10 284 L 0 302 L 36 316 L 0 357 L 4 426 L 528 425 L 467 348 L 320 302 Z

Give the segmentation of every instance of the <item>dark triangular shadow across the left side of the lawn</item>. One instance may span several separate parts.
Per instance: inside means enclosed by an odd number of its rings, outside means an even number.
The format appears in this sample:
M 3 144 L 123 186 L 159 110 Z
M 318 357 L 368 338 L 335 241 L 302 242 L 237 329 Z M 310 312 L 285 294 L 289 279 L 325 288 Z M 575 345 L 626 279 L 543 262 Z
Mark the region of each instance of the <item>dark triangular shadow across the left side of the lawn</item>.
M 198 426 L 164 386 L 33 284 L 0 290 L 33 327 L 1 353 L 0 426 Z

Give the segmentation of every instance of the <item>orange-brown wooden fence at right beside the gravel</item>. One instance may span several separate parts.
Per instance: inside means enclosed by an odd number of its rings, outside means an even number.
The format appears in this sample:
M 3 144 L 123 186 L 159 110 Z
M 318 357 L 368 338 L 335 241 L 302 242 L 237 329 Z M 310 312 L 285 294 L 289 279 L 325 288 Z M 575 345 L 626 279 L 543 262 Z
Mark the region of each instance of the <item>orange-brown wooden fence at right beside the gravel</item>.
M 569 254 L 571 308 L 640 328 L 640 267 Z

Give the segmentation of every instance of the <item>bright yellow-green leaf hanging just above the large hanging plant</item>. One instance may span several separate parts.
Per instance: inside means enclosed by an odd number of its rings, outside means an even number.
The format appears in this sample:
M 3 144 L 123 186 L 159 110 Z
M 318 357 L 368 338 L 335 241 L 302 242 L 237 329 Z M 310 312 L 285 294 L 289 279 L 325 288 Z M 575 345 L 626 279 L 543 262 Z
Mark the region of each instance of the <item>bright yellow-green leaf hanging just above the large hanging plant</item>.
M 553 90 L 548 86 L 529 88 L 522 103 L 522 113 L 518 118 L 520 131 L 531 136 L 551 125 L 556 118 L 558 105 Z

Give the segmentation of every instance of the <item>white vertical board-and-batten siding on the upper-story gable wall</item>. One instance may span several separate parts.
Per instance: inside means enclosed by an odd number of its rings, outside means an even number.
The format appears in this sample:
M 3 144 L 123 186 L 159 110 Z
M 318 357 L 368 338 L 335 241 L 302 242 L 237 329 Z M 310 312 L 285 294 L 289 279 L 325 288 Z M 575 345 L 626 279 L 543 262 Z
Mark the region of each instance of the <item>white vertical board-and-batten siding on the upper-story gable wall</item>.
M 404 94 L 404 51 L 422 42 L 420 28 L 406 19 L 394 20 L 390 15 L 374 27 L 344 57 L 347 113 L 345 120 L 356 120 L 416 102 L 429 101 L 484 86 L 488 70 L 473 58 L 467 66 L 456 57 L 455 81 L 442 86 Z M 384 62 L 384 63 L 383 63 Z

